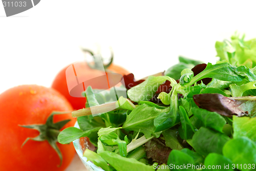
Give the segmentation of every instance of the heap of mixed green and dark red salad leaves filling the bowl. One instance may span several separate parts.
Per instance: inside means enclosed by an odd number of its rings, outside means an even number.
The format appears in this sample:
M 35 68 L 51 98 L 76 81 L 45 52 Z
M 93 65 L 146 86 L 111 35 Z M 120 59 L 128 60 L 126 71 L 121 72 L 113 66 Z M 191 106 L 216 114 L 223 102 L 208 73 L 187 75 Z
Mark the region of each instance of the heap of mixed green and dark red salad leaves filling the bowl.
M 133 82 L 123 85 L 127 99 L 115 101 L 88 87 L 83 94 L 90 106 L 87 102 L 72 114 L 80 129 L 68 127 L 58 141 L 89 137 L 96 150 L 86 149 L 83 156 L 108 171 L 214 165 L 220 167 L 209 170 L 254 170 L 256 39 L 235 34 L 231 41 L 217 41 L 216 51 L 220 60 L 215 65 L 179 57 L 164 76 L 139 81 L 124 76 Z M 171 89 L 160 90 L 166 82 Z M 156 95 L 158 102 L 152 100 Z M 92 111 L 100 115 L 93 117 Z

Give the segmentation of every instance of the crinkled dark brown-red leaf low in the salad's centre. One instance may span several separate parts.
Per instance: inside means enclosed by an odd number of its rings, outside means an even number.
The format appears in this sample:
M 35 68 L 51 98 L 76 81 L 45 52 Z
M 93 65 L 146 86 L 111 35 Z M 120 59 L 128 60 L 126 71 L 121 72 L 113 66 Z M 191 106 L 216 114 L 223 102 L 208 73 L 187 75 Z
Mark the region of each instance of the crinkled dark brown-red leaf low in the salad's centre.
M 145 143 L 145 151 L 148 159 L 152 159 L 153 161 L 160 164 L 167 164 L 168 156 L 170 154 L 170 147 L 167 147 L 164 142 L 161 142 L 160 139 L 153 138 L 150 141 Z

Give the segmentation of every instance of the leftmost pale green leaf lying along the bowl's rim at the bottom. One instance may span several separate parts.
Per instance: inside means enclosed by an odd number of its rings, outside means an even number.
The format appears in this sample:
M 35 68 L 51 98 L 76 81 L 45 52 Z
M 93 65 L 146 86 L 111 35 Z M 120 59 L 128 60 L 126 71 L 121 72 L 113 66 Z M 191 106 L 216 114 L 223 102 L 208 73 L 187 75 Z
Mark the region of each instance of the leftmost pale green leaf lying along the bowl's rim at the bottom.
M 97 153 L 90 151 L 90 149 L 86 149 L 83 153 L 83 157 L 87 158 L 87 161 L 92 161 L 98 167 L 101 167 L 105 171 L 111 171 L 111 167 L 106 163 L 106 161 Z

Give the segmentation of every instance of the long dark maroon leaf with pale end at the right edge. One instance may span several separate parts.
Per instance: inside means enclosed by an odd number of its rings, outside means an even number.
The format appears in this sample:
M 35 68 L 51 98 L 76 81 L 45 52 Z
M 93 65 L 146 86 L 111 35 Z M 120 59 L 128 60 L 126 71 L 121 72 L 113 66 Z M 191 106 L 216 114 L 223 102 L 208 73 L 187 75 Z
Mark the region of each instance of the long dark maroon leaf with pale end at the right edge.
M 228 117 L 252 115 L 256 109 L 255 96 L 225 97 L 221 94 L 197 94 L 193 99 L 199 108 Z

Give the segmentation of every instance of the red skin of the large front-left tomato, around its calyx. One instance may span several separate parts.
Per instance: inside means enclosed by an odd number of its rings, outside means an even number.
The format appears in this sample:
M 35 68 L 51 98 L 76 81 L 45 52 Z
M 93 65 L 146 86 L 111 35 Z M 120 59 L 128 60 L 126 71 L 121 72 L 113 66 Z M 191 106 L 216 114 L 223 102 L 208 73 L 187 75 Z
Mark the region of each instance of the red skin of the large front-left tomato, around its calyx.
M 45 124 L 52 111 L 72 111 L 71 104 L 57 91 L 37 86 L 23 85 L 0 94 L 0 170 L 61 171 L 70 164 L 75 149 L 72 143 L 57 143 L 62 153 L 60 159 L 47 141 L 29 140 L 38 136 L 38 131 L 18 125 Z M 71 119 L 62 129 L 73 126 L 76 119 L 71 114 L 55 115 L 53 121 Z

